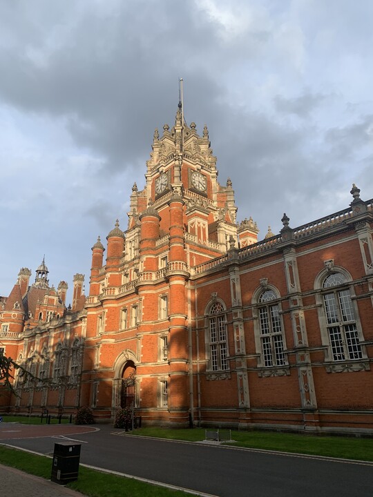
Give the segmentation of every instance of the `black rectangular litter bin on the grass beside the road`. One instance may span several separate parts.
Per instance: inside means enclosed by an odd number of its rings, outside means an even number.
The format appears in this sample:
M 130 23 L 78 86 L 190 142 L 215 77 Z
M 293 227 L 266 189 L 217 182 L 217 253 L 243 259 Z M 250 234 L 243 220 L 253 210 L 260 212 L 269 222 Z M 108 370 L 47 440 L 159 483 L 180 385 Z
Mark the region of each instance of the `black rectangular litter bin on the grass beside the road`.
M 81 447 L 71 442 L 55 443 L 50 480 L 59 485 L 77 480 Z

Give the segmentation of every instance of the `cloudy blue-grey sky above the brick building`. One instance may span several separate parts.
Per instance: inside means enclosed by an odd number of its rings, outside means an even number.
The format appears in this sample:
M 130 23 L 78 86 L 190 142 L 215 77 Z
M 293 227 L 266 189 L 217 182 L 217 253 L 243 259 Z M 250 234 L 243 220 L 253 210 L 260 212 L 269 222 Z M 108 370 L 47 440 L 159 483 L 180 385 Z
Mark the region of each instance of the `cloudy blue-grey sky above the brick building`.
M 0 295 L 44 255 L 88 291 L 180 77 L 260 240 L 371 199 L 372 25 L 370 0 L 0 0 Z

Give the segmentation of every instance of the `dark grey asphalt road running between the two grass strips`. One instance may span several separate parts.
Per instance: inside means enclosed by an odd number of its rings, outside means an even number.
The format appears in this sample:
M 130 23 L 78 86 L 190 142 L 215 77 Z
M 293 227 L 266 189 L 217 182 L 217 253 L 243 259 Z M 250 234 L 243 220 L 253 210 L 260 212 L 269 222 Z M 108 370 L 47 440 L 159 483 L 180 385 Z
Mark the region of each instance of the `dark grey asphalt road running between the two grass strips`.
M 372 497 L 373 465 L 120 436 L 99 426 L 70 436 L 82 442 L 81 462 L 218 497 Z M 56 437 L 7 443 L 51 454 Z

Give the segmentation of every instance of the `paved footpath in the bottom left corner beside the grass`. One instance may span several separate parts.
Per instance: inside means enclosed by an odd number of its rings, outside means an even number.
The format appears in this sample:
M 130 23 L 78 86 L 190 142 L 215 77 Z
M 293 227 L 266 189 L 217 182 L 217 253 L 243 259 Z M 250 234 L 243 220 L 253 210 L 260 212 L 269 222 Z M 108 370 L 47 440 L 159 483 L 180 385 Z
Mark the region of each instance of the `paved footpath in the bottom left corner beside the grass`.
M 1 495 L 19 497 L 82 497 L 83 494 L 70 490 L 39 476 L 32 476 L 19 469 L 0 465 Z

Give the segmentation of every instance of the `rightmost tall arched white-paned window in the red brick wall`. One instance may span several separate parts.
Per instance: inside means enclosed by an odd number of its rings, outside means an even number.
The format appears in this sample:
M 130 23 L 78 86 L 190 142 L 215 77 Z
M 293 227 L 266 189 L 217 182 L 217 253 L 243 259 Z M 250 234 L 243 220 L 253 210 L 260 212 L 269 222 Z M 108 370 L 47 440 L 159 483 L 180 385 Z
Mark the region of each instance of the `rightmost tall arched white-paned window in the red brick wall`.
M 323 281 L 327 334 L 334 361 L 363 358 L 350 289 L 341 288 L 347 283 L 342 273 L 330 274 Z

